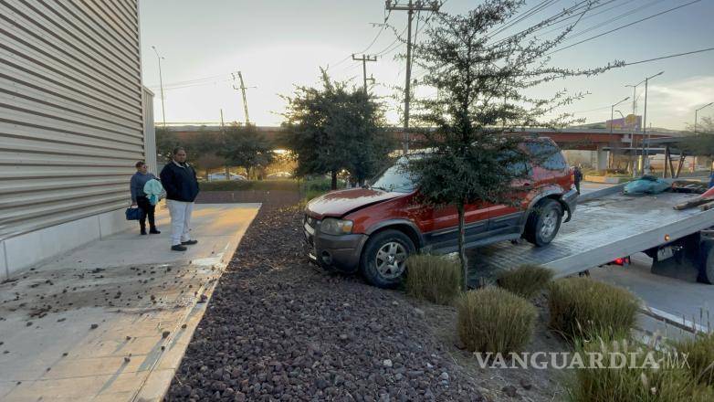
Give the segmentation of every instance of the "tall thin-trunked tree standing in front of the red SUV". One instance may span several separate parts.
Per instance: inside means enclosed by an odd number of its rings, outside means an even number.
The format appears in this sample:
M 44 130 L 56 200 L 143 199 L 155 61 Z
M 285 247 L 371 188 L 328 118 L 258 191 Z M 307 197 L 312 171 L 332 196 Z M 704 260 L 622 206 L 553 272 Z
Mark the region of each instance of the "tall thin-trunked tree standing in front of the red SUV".
M 423 83 L 436 88 L 437 96 L 417 101 L 417 123 L 433 130 L 423 132 L 422 145 L 429 152 L 413 158 L 407 169 L 415 175 L 426 202 L 457 208 L 465 289 L 466 206 L 515 203 L 512 185 L 528 175 L 526 164 L 550 156 L 527 154 L 523 139 L 504 134 L 524 126 L 562 126 L 569 115 L 550 120 L 543 116 L 582 96 L 563 90 L 549 99 L 536 99 L 527 90 L 553 79 L 607 69 L 548 66 L 543 55 L 562 43 L 572 26 L 551 40 L 531 37 L 549 21 L 501 40 L 489 35 L 524 3 L 486 0 L 464 16 L 436 13 L 425 42 L 415 49 L 415 63 L 426 70 Z

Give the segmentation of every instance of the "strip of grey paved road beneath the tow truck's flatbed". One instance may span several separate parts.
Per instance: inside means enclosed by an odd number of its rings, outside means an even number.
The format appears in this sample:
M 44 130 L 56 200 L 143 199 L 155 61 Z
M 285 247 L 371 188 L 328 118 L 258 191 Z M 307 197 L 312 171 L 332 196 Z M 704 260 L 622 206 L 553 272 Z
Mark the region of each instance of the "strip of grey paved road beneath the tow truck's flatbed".
M 650 307 L 714 329 L 714 285 L 655 275 L 644 254 L 632 259 L 629 267 L 597 268 L 591 276 L 633 291 Z

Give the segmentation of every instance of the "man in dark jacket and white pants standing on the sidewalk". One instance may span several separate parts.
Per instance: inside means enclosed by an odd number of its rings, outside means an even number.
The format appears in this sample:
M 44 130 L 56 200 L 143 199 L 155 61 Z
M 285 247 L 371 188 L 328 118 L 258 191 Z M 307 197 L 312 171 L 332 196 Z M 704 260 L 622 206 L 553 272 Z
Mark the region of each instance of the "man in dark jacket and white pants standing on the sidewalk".
M 171 249 L 185 251 L 186 246 L 198 243 L 190 233 L 198 180 L 194 168 L 186 162 L 184 148 L 173 150 L 173 160 L 163 166 L 161 181 L 171 215 Z

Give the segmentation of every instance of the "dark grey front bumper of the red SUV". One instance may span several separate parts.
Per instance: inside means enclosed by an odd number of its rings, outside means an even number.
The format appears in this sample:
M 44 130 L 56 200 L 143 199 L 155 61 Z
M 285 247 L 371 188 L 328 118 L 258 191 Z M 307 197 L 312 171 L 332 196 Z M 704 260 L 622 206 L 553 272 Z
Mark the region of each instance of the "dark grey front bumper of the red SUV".
M 367 235 L 328 235 L 320 232 L 320 221 L 306 218 L 303 232 L 308 248 L 308 257 L 327 270 L 356 272 L 360 268 L 362 248 Z

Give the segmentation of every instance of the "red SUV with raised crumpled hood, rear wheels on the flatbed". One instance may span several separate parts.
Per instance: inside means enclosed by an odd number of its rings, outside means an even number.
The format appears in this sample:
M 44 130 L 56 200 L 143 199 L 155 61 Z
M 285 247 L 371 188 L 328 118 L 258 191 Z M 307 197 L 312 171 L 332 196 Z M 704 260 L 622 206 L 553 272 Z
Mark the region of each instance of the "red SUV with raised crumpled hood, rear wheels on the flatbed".
M 565 222 L 572 217 L 578 194 L 557 145 L 540 138 L 527 142 L 526 148 L 531 154 L 552 152 L 542 164 L 528 166 L 530 179 L 514 185 L 520 205 L 467 206 L 467 247 L 516 238 L 545 246 L 558 233 L 563 215 L 567 214 Z M 303 228 L 312 261 L 325 269 L 361 270 L 373 285 L 391 288 L 402 280 L 409 254 L 457 250 L 456 207 L 420 205 L 419 189 L 405 163 L 401 158 L 372 185 L 310 201 Z

